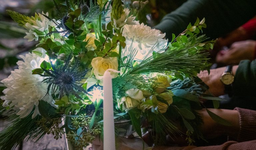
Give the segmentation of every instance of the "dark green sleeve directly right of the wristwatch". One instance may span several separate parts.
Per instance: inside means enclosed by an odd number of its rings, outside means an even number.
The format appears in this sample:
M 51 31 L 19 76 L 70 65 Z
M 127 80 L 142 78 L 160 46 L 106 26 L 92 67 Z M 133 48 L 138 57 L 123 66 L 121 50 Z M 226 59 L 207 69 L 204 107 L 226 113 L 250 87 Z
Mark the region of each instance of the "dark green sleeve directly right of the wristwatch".
M 256 59 L 239 63 L 232 86 L 236 97 L 256 97 Z

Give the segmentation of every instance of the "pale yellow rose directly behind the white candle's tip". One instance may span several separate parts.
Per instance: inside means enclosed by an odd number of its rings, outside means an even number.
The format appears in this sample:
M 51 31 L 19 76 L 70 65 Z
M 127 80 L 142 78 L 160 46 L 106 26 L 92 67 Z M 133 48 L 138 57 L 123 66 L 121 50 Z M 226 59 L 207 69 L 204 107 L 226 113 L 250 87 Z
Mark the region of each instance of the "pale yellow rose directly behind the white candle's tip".
M 107 69 L 118 69 L 118 62 L 116 57 L 96 57 L 92 59 L 91 65 L 93 67 L 92 71 L 98 80 L 103 80 L 104 72 Z M 118 74 L 115 72 L 110 72 L 110 75 L 112 79 L 118 76 Z

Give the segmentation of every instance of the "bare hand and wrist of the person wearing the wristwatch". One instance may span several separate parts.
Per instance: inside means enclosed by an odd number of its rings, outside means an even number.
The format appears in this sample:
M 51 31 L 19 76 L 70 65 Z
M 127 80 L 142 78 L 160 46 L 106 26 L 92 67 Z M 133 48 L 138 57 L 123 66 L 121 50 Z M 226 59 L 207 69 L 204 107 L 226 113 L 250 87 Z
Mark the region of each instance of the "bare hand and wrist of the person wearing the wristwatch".
M 235 75 L 238 66 L 233 66 L 232 73 Z M 220 81 L 221 75 L 226 70 L 226 67 L 221 67 L 217 69 L 211 69 L 210 74 L 208 72 L 201 71 L 198 77 L 209 86 L 208 92 L 214 96 L 224 95 L 224 84 Z

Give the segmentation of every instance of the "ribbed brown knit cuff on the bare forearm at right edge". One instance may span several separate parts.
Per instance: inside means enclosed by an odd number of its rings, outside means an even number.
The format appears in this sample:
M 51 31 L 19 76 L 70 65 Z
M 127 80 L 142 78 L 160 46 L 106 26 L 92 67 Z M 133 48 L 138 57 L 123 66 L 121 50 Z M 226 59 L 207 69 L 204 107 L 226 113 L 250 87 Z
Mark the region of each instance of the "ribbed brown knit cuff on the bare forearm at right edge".
M 240 118 L 240 131 L 237 141 L 250 141 L 256 139 L 256 111 L 236 107 Z

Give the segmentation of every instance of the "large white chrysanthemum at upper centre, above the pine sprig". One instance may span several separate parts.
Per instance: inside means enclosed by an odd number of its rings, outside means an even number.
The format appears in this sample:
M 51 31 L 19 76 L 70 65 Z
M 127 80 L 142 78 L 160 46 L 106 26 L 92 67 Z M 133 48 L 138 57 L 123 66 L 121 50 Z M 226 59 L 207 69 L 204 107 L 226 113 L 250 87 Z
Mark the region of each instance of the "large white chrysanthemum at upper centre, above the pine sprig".
M 142 60 L 149 51 L 153 48 L 155 52 L 166 47 L 168 40 L 163 39 L 165 33 L 157 29 L 142 24 L 137 25 L 125 25 L 123 30 L 123 36 L 126 39 L 126 46 L 130 47 L 132 44 L 133 48 L 138 49 L 138 53 L 135 57 L 137 60 Z M 133 42 L 133 43 L 132 43 Z M 149 54 L 148 56 L 151 56 Z

